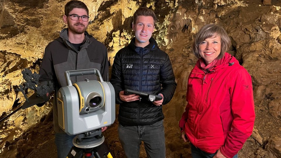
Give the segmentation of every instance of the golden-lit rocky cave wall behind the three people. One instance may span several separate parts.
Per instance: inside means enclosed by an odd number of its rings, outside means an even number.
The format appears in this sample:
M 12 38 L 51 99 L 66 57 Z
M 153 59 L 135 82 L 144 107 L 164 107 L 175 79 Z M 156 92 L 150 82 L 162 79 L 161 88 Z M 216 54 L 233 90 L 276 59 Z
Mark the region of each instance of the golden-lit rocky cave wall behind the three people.
M 45 46 L 66 25 L 62 16 L 64 0 L 0 0 L 0 115 L 11 113 L 25 101 L 14 90 L 23 82 L 21 71 L 38 72 Z M 241 157 L 280 157 L 281 155 L 281 11 L 280 1 L 193 0 L 193 1 L 84 1 L 92 24 L 88 32 L 108 48 L 112 64 L 115 53 L 133 37 L 132 15 L 139 6 L 153 9 L 158 16 L 153 37 L 169 54 L 177 79 L 172 101 L 163 107 L 167 157 L 189 157 L 189 145 L 182 143 L 178 121 L 184 111 L 186 83 L 196 62 L 191 42 L 203 25 L 222 25 L 232 39 L 229 53 L 252 76 L 256 122 L 253 135 L 239 152 Z M 28 93 L 31 95 L 32 91 Z M 0 124 L 0 157 L 25 157 L 37 146 L 36 133 L 52 133 L 50 103 L 44 107 L 20 110 Z M 36 123 L 43 124 L 44 127 Z M 44 130 L 42 130 L 44 128 Z M 45 129 L 46 128 L 46 129 Z M 41 129 L 41 130 L 40 130 Z M 105 133 L 115 157 L 122 157 L 114 124 Z M 113 134 L 112 134 L 113 133 Z M 44 134 L 44 133 L 43 133 Z M 28 137 L 28 135 L 30 135 Z M 47 135 L 47 133 L 45 133 Z M 48 139 L 48 138 L 47 138 Z M 40 140 L 46 142 L 47 139 Z M 8 142 L 6 142 L 8 141 Z M 4 146 L 4 143 L 6 145 Z M 40 143 L 42 143 L 40 142 Z M 44 144 L 44 143 L 43 143 Z M 33 145 L 33 146 L 32 146 Z M 279 145 L 279 147 L 278 147 Z M 39 145 L 40 146 L 40 145 Z M 38 146 L 38 147 L 39 147 Z M 13 154 L 11 154 L 13 153 Z M 145 155 L 141 150 L 141 155 Z

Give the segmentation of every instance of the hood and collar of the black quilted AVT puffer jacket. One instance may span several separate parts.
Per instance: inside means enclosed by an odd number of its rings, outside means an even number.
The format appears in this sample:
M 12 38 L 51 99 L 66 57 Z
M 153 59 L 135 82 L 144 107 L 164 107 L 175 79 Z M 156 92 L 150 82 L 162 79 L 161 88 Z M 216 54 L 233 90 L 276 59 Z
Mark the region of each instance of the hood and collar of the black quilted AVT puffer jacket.
M 148 51 L 154 51 L 158 48 L 158 44 L 157 42 L 154 40 L 153 37 L 151 37 L 149 39 L 149 44 L 147 46 L 145 46 L 144 48 L 143 47 L 138 47 L 136 46 L 135 44 L 135 40 L 136 40 L 136 37 L 134 37 L 131 42 L 129 43 L 128 47 L 130 49 L 133 49 L 134 51 L 136 51 L 137 53 L 139 53 L 140 51 L 142 51 L 143 53 L 146 53 Z

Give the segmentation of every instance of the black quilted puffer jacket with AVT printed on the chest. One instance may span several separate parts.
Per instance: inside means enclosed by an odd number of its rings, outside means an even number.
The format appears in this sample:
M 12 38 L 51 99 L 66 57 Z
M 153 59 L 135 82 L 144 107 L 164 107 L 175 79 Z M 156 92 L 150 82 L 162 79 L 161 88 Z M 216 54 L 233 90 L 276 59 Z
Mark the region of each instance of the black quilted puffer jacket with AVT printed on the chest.
M 164 96 L 163 104 L 173 97 L 177 83 L 168 54 L 160 50 L 153 38 L 142 48 L 135 46 L 135 38 L 120 49 L 112 66 L 110 82 L 114 86 L 116 104 L 120 104 L 118 120 L 126 126 L 150 125 L 164 119 L 162 106 L 152 102 L 123 102 L 119 92 L 124 89 Z M 162 87 L 162 88 L 161 88 Z

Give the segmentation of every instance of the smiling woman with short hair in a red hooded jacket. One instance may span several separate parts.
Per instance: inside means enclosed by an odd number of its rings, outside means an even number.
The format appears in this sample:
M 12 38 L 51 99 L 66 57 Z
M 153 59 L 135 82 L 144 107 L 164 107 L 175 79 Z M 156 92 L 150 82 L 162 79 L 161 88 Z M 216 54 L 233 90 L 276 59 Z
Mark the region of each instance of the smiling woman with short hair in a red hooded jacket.
M 230 38 L 219 25 L 203 26 L 192 46 L 198 61 L 188 78 L 181 138 L 192 157 L 237 157 L 252 134 L 255 111 L 251 76 L 228 54 Z

